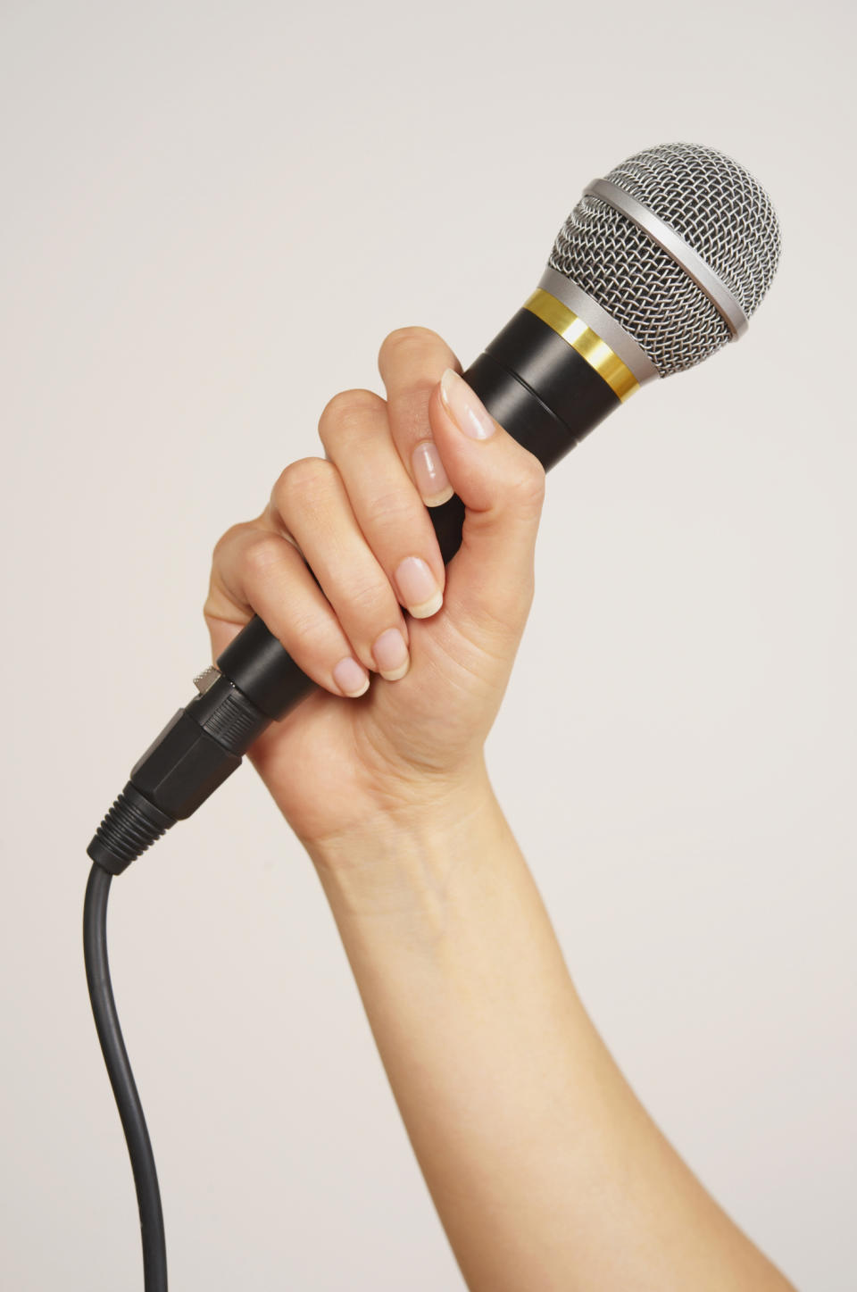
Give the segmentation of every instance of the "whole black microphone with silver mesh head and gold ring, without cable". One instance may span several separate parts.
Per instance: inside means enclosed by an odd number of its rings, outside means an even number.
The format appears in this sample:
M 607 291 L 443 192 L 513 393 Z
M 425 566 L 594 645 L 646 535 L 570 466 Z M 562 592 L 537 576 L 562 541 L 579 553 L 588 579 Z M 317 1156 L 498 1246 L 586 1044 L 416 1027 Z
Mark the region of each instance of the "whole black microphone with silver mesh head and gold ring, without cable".
M 637 152 L 587 186 L 538 287 L 464 380 L 549 470 L 641 385 L 742 336 L 778 258 L 770 199 L 737 162 L 693 143 Z M 464 504 L 429 516 L 449 562 Z M 190 817 L 315 686 L 259 618 L 194 682 L 87 849 L 110 875 Z

